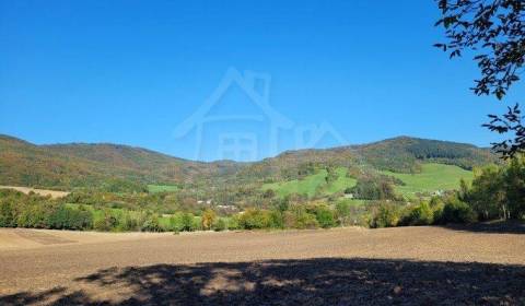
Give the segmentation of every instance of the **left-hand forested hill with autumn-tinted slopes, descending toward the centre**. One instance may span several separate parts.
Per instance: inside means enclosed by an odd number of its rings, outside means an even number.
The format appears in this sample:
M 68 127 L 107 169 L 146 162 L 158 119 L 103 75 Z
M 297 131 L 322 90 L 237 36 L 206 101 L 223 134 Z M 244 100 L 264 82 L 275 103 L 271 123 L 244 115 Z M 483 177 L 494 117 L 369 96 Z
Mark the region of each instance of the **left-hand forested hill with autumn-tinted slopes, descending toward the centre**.
M 236 163 L 199 163 L 141 148 L 119 144 L 35 145 L 0 136 L 0 185 L 106 187 L 112 185 L 185 184 L 196 178 L 224 176 Z

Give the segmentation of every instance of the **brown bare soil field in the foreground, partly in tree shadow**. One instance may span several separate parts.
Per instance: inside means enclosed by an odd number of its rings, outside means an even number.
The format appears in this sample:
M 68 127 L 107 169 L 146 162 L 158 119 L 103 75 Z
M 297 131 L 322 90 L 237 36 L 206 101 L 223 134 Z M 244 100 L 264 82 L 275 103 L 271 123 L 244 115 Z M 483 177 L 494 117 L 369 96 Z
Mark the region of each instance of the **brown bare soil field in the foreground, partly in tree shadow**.
M 525 305 L 524 229 L 0 229 L 0 305 Z

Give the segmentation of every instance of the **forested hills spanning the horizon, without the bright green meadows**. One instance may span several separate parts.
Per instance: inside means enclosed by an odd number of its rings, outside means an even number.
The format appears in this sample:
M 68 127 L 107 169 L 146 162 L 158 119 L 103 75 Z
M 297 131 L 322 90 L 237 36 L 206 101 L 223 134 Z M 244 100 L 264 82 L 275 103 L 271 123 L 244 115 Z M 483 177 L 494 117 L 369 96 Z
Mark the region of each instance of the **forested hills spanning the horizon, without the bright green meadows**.
M 35 145 L 0 136 L 0 185 L 70 189 L 141 184 L 228 184 L 293 177 L 305 165 L 339 165 L 400 173 L 436 162 L 474 166 L 497 163 L 487 149 L 416 138 L 395 138 L 363 145 L 303 150 L 257 163 L 202 163 L 119 144 Z

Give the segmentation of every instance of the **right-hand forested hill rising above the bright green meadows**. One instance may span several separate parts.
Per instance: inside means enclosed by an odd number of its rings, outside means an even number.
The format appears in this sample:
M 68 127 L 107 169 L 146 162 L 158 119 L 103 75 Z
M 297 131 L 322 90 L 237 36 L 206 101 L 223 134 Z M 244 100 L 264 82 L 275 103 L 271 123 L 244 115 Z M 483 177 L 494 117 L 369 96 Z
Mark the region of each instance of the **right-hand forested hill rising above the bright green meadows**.
M 245 179 L 258 176 L 273 180 L 300 178 L 312 165 L 349 167 L 353 173 L 418 173 L 422 163 L 456 165 L 470 170 L 476 166 L 501 161 L 489 149 L 472 144 L 398 137 L 370 144 L 290 151 L 244 167 L 238 176 Z

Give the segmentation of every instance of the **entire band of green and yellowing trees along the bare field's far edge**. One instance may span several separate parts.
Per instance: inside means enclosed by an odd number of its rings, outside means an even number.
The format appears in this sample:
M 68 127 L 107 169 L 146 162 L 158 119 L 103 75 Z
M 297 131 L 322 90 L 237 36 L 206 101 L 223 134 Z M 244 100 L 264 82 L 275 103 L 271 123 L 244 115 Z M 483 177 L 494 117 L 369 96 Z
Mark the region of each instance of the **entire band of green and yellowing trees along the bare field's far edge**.
M 354 199 L 314 199 L 268 196 L 267 204 L 241 212 L 213 205 L 184 204 L 174 193 L 120 195 L 73 192 L 54 200 L 14 190 L 0 190 L 0 227 L 95 229 L 108 232 L 191 232 L 224 229 L 329 228 L 360 225 L 389 227 L 523 220 L 525 157 L 504 165 L 475 169 L 471 183 L 457 191 L 410 202 L 395 193 L 395 180 L 361 177 Z

